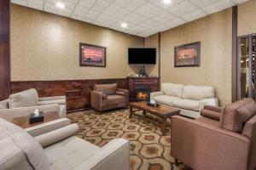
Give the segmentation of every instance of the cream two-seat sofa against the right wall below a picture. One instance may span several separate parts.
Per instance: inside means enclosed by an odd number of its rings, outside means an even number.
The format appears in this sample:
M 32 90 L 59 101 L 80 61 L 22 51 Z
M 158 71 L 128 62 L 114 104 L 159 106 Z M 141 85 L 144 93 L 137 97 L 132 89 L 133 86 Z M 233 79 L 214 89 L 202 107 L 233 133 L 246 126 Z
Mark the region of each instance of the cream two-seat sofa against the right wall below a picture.
M 159 104 L 179 108 L 182 116 L 199 118 L 204 105 L 218 106 L 214 97 L 214 88 L 210 86 L 193 86 L 164 82 L 161 91 L 150 94 L 150 99 Z

